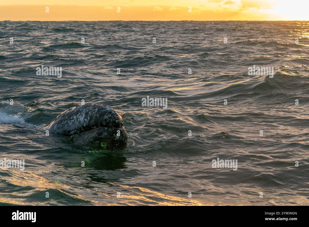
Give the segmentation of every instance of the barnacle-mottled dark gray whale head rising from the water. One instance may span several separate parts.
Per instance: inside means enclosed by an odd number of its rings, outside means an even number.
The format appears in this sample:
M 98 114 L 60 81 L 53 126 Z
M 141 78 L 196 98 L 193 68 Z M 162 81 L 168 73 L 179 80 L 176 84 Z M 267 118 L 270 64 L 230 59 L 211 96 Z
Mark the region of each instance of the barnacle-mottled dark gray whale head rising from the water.
M 111 107 L 99 104 L 72 107 L 42 129 L 70 136 L 72 143 L 95 149 L 125 148 L 128 141 L 121 116 Z

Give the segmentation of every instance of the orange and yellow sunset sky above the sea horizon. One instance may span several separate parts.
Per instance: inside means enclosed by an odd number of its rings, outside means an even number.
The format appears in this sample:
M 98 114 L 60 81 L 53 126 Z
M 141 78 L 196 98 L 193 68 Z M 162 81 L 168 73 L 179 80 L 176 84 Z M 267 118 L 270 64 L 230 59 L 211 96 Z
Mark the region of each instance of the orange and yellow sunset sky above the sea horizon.
M 11 0 L 0 21 L 309 20 L 308 9 L 309 0 Z

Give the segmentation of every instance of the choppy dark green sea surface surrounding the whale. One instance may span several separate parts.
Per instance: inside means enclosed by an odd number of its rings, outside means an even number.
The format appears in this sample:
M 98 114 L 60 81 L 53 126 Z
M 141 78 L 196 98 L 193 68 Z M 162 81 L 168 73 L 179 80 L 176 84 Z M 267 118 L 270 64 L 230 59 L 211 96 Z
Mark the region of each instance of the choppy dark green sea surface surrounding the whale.
M 23 171 L 0 169 L 2 204 L 309 204 L 309 22 L 0 28 L 0 157 L 25 159 Z M 37 76 L 41 65 L 62 78 Z M 274 77 L 249 76 L 253 65 Z M 167 109 L 142 107 L 147 96 Z M 81 99 L 122 115 L 126 149 L 87 151 L 38 129 Z M 238 170 L 212 168 L 217 158 Z

